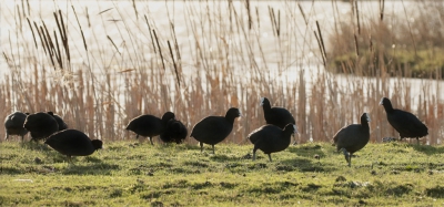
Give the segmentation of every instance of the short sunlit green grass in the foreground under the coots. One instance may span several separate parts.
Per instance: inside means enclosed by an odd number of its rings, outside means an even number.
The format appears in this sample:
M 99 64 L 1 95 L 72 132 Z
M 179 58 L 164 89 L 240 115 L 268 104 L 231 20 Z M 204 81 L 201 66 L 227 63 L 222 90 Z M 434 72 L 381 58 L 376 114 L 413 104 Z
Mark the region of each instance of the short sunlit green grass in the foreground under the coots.
M 252 145 L 213 155 L 206 145 L 113 142 L 74 164 L 42 145 L 0 147 L 0 206 L 444 205 L 444 146 L 369 144 L 351 168 L 329 143 L 290 146 L 273 163 L 245 156 Z

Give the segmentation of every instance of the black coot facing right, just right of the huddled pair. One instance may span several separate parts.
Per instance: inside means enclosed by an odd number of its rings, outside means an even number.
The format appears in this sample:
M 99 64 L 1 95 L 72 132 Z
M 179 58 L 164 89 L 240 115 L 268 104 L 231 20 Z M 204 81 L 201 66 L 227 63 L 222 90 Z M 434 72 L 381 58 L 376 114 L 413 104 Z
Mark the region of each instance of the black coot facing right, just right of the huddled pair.
M 213 146 L 222 142 L 233 130 L 234 118 L 241 116 L 241 112 L 232 107 L 225 116 L 206 116 L 198 124 L 194 125 L 190 137 L 194 137 L 200 142 L 201 152 L 203 151 L 203 143 Z

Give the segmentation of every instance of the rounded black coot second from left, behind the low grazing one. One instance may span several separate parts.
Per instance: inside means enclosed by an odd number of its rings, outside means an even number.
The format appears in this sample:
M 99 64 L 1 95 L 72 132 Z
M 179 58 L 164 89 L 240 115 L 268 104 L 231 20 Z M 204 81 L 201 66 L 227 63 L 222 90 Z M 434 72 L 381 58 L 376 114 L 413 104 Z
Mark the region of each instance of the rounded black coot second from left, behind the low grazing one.
M 46 139 L 59 131 L 56 118 L 44 112 L 28 115 L 23 126 L 31 133 L 31 141 L 34 142 Z

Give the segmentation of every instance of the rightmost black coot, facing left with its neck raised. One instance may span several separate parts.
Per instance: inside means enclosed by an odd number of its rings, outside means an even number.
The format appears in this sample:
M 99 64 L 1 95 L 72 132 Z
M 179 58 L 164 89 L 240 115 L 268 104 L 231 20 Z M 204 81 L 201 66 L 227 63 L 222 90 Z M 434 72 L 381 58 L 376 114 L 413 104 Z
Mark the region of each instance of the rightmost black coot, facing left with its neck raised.
M 400 133 L 400 141 L 404 137 L 416 138 L 420 144 L 420 137 L 428 134 L 428 128 L 415 115 L 402 110 L 395 110 L 389 99 L 383 97 L 380 105 L 384 106 L 387 114 L 387 121 Z

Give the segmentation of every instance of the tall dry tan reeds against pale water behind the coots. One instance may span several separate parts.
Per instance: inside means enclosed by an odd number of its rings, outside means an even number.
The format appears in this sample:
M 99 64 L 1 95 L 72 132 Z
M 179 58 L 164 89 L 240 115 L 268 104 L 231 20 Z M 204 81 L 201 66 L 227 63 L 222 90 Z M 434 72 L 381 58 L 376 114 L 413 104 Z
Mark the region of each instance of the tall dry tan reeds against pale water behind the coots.
M 48 14 L 28 1 L 14 2 L 2 51 L 9 70 L 1 80 L 1 117 L 53 111 L 69 127 L 110 142 L 133 138 L 124 127 L 141 114 L 172 111 L 191 132 L 204 116 L 235 106 L 243 116 L 224 142 L 244 144 L 265 123 L 259 99 L 266 96 L 295 116 L 299 143 L 330 142 L 363 112 L 372 118 L 372 142 L 381 142 L 397 136 L 379 105 L 389 96 L 426 123 L 424 143 L 441 143 L 440 77 L 413 84 L 389 73 L 400 65 L 384 61 L 373 77 L 360 71 L 375 65 L 344 66 L 354 75 L 327 72 L 327 25 L 316 20 L 315 3 L 283 1 L 264 9 L 252 1 L 181 2 L 184 17 L 174 14 L 178 2 L 158 2 L 167 8 L 162 17 L 149 2 L 97 3 L 105 8 L 59 4 L 43 20 L 39 14 Z M 185 25 L 178 27 L 182 18 Z M 417 85 L 418 92 L 412 89 Z

